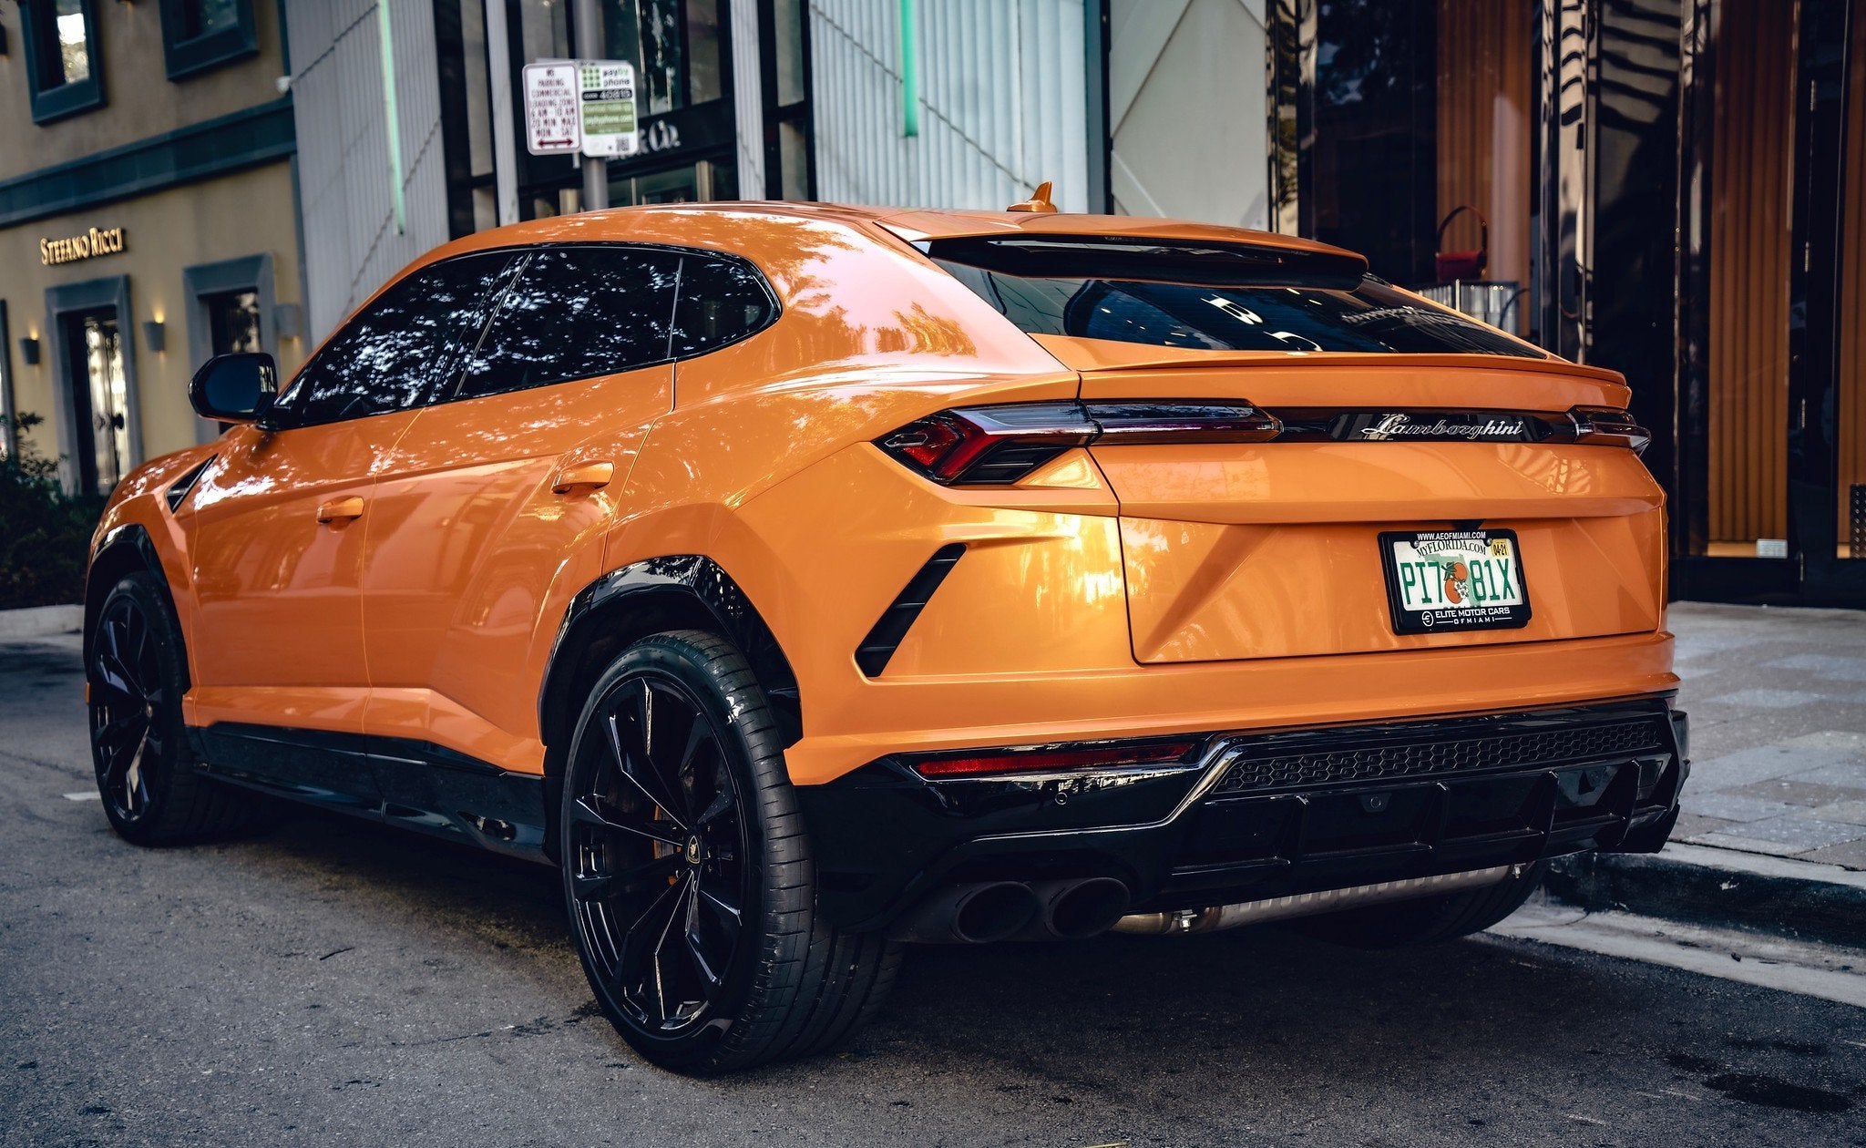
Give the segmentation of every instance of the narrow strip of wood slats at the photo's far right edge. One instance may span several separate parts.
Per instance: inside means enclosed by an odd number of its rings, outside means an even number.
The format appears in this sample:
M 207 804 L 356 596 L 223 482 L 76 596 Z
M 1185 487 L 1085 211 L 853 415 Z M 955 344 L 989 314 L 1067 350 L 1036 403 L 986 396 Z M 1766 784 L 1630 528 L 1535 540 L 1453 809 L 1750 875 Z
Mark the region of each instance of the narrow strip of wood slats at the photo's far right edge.
M 1866 0 L 1853 0 L 1847 67 L 1840 304 L 1851 308 L 1851 317 L 1840 325 L 1840 545 L 1849 536 L 1849 487 L 1866 482 Z

